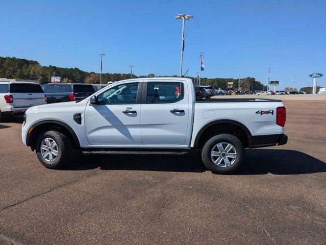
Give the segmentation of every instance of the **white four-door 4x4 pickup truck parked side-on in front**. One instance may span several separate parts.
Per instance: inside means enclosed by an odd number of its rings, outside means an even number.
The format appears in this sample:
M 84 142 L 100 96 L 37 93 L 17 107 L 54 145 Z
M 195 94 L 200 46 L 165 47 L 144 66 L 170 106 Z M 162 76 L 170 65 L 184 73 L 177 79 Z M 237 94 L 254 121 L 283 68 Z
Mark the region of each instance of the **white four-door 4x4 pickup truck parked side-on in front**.
M 190 79 L 131 79 L 83 101 L 29 108 L 22 141 L 48 168 L 63 166 L 72 148 L 83 154 L 200 149 L 208 169 L 233 173 L 243 163 L 245 148 L 287 142 L 285 117 L 279 100 L 196 100 Z

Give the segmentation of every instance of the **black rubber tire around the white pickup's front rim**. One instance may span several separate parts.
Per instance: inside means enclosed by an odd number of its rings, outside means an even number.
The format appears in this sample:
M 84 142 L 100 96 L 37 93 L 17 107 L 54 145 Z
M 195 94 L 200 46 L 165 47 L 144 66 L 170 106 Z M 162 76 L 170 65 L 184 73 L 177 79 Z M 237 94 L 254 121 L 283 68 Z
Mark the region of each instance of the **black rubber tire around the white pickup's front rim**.
M 58 155 L 53 161 L 47 161 L 43 158 L 41 154 L 41 143 L 45 138 L 53 139 L 57 144 Z M 42 163 L 42 165 L 46 168 L 61 168 L 63 167 L 69 157 L 71 156 L 71 142 L 69 138 L 61 132 L 51 130 L 44 131 L 39 135 L 36 140 L 36 155 L 38 160 Z

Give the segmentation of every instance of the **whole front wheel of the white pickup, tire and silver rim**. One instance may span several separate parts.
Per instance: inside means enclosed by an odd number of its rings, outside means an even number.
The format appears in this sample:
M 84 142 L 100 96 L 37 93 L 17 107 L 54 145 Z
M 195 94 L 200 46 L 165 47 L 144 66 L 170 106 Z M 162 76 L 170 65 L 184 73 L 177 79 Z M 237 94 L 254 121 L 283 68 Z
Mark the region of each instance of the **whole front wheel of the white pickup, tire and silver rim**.
M 36 155 L 43 166 L 60 168 L 71 155 L 70 140 L 61 132 L 44 131 L 36 140 Z

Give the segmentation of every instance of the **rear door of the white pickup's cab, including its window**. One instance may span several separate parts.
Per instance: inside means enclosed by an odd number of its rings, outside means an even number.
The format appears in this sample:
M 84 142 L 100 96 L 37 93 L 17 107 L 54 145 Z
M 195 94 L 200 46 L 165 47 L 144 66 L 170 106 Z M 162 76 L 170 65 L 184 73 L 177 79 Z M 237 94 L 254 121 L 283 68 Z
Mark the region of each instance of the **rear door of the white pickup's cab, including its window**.
M 143 90 L 145 90 L 141 105 L 143 144 L 184 144 L 189 117 L 185 84 L 182 81 L 149 81 L 143 84 Z

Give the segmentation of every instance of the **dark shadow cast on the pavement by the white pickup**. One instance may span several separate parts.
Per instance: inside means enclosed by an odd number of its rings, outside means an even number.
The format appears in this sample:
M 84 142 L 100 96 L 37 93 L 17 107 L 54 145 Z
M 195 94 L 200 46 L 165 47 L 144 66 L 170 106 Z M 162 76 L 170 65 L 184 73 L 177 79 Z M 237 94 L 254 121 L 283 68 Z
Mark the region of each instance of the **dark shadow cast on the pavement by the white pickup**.
M 190 151 L 184 156 L 175 155 L 81 155 L 62 170 L 147 170 L 204 172 L 200 154 Z M 292 150 L 246 150 L 245 165 L 236 175 L 298 175 L 326 172 L 326 163 L 305 153 Z

